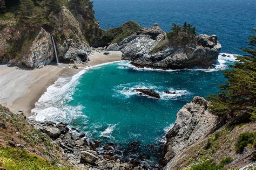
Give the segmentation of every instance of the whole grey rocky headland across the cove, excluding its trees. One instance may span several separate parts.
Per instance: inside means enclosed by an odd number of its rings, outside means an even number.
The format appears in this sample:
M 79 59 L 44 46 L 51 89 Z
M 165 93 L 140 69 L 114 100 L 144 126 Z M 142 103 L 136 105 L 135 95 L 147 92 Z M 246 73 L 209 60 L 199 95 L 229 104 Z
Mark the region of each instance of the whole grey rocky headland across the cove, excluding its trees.
M 211 68 L 217 63 L 221 45 L 218 37 L 200 34 L 186 45 L 167 37 L 157 24 L 112 44 L 109 50 L 122 50 L 123 60 L 132 60 L 137 67 L 160 69 Z

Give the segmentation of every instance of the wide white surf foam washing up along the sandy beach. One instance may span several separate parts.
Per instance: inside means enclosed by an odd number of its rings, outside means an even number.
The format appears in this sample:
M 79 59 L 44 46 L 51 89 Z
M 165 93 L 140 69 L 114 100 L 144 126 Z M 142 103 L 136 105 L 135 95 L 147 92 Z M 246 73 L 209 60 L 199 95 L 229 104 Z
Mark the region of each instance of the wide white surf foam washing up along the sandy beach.
M 75 87 L 78 84 L 77 80 L 81 75 L 86 73 L 87 70 L 109 65 L 115 62 L 120 61 L 85 67 L 72 77 L 60 77 L 54 84 L 52 84 L 52 86 L 47 88 L 46 92 L 39 98 L 38 102 L 35 103 L 35 108 L 31 110 L 32 116 L 30 116 L 29 119 L 35 119 L 36 121 L 41 122 L 69 122 L 74 118 L 86 117 L 83 115 L 82 105 L 65 105 L 65 103 L 72 100 L 72 95 L 75 91 Z

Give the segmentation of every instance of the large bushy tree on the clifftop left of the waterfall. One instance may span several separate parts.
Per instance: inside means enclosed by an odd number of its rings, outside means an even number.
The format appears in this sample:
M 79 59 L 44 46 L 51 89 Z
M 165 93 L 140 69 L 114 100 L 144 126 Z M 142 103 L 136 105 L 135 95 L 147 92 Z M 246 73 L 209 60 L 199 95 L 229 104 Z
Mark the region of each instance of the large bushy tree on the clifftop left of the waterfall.
M 19 6 L 18 24 L 19 26 L 37 28 L 45 24 L 44 10 L 40 6 L 35 6 L 31 0 L 23 0 Z

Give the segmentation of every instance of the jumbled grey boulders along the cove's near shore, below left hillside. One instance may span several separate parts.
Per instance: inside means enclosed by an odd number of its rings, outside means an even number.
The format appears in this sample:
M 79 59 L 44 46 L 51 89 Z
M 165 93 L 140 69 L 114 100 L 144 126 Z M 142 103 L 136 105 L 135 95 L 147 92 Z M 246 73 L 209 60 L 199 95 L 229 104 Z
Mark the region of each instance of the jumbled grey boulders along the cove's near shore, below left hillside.
M 47 134 L 54 143 L 58 144 L 62 148 L 63 155 L 73 166 L 97 169 L 147 169 L 150 166 L 143 164 L 143 161 L 150 158 L 146 154 L 140 154 L 137 158 L 124 159 L 130 154 L 137 154 L 138 141 L 133 141 L 126 150 L 115 150 L 117 144 L 102 146 L 100 141 L 86 138 L 85 133 L 81 133 L 75 128 L 69 128 L 65 123 L 56 124 L 34 120 L 30 120 L 30 123 L 35 129 Z M 103 148 L 102 152 L 99 152 L 100 148 Z M 115 152 L 124 157 L 118 156 Z M 153 167 L 159 168 L 160 166 L 153 165 Z

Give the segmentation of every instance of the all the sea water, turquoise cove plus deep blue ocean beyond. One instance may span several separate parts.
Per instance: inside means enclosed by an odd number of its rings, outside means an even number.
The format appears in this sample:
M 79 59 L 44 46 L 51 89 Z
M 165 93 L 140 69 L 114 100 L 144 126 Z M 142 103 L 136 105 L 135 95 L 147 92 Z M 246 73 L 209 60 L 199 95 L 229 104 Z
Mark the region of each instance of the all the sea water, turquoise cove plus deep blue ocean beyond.
M 135 20 L 144 27 L 158 23 L 169 31 L 172 23 L 191 23 L 198 33 L 216 34 L 222 53 L 242 54 L 256 27 L 255 0 L 95 0 L 96 19 L 103 29 Z M 139 144 L 137 156 L 150 155 L 156 163 L 158 148 L 176 121 L 176 114 L 194 96 L 216 94 L 225 78 L 221 70 L 234 56 L 219 56 L 215 69 L 138 69 L 129 61 L 107 63 L 82 70 L 72 78 L 59 78 L 32 110 L 37 121 L 64 122 L 86 133 L 87 140 L 117 146 L 118 157 Z M 136 88 L 150 88 L 160 100 L 140 96 Z M 165 94 L 165 90 L 176 94 Z M 104 152 L 102 148 L 99 152 Z M 136 157 L 136 155 L 135 155 Z

